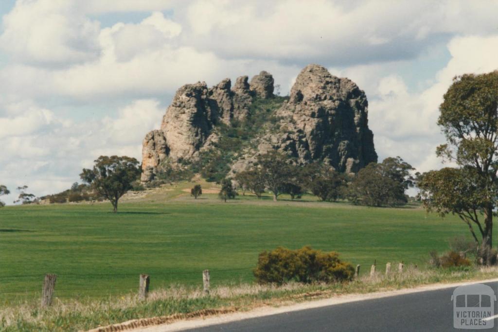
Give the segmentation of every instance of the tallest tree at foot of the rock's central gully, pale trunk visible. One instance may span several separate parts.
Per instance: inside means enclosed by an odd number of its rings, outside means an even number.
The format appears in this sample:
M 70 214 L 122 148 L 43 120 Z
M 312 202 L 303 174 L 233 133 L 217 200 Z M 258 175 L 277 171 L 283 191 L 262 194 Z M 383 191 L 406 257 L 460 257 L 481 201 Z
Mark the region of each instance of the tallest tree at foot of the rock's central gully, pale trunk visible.
M 257 163 L 263 184 L 273 194 L 273 201 L 276 202 L 278 196 L 292 183 L 290 180 L 298 176 L 299 171 L 296 166 L 290 164 L 286 155 L 276 150 L 258 156 Z

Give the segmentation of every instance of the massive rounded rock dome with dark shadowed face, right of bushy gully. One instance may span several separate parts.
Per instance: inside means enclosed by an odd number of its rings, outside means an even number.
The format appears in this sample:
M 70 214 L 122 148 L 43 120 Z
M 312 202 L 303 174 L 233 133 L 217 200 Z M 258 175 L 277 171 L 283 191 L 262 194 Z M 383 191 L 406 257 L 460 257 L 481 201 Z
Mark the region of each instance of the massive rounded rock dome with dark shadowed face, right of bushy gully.
M 357 172 L 377 161 L 365 92 L 322 66 L 299 73 L 277 115 L 285 130 L 266 140 L 301 163 L 321 160 L 340 172 Z

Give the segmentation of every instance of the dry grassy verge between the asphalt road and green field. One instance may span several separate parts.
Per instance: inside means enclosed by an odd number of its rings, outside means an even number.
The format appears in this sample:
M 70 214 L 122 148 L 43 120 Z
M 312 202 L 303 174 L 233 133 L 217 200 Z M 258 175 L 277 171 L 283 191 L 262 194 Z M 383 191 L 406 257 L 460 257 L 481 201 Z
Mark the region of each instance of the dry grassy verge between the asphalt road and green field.
M 363 276 L 343 284 L 218 286 L 211 290 L 209 296 L 204 295 L 201 288 L 178 285 L 150 293 L 146 302 L 139 301 L 134 295 L 100 300 L 56 299 L 52 307 L 40 309 L 37 301 L 25 301 L 14 306 L 0 307 L 0 331 L 81 331 L 136 319 L 142 320 L 129 323 L 128 326 L 147 326 L 336 295 L 412 288 L 432 283 L 484 280 L 496 278 L 497 275 L 497 268 L 419 270 L 407 267 L 403 273 L 391 273 L 389 276 L 378 273 L 373 278 Z M 114 330 L 101 328 L 97 331 Z

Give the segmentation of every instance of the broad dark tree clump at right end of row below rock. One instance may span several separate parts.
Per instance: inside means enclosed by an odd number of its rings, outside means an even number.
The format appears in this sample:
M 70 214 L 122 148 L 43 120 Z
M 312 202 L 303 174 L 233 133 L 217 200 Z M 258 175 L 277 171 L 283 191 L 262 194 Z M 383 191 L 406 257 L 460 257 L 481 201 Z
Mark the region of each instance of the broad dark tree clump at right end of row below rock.
M 404 205 L 405 190 L 413 186 L 414 168 L 400 157 L 370 163 L 356 174 L 349 186 L 349 199 L 354 204 L 373 207 Z

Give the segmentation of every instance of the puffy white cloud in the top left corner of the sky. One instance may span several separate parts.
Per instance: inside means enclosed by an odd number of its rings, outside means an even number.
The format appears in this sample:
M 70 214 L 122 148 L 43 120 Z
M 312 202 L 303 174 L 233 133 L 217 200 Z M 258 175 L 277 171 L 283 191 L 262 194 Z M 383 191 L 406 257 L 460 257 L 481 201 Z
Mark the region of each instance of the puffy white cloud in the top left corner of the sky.
M 61 66 L 98 57 L 100 24 L 65 0 L 18 0 L 3 16 L 1 48 L 15 61 Z

